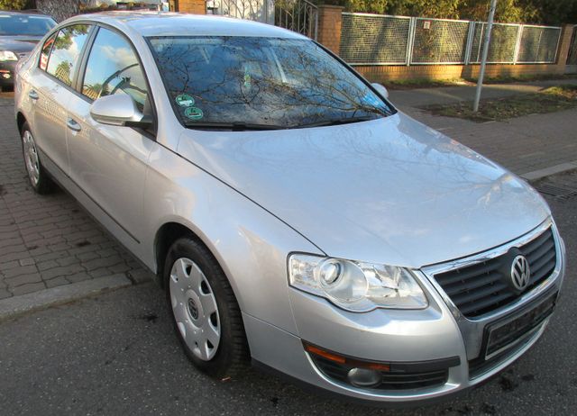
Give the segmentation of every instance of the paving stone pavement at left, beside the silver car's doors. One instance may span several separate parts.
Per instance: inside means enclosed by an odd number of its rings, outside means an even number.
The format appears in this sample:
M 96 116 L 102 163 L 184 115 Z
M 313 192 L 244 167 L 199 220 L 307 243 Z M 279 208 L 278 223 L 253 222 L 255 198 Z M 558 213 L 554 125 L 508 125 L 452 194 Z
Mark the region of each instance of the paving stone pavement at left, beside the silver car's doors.
M 12 100 L 0 99 L 0 299 L 102 276 L 151 276 L 69 196 L 28 185 Z

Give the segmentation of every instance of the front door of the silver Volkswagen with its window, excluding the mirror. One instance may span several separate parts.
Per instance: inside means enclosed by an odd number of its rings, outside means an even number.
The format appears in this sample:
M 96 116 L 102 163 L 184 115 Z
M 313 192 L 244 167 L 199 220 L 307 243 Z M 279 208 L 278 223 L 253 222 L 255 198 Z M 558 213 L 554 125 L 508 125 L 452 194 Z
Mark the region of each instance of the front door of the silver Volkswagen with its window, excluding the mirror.
M 99 27 L 78 79 L 81 92 L 71 98 L 67 117 L 70 177 L 102 210 L 111 231 L 129 249 L 142 235 L 142 197 L 153 131 L 105 125 L 90 115 L 101 96 L 130 95 L 140 111 L 153 117 L 151 96 L 132 43 L 113 29 Z

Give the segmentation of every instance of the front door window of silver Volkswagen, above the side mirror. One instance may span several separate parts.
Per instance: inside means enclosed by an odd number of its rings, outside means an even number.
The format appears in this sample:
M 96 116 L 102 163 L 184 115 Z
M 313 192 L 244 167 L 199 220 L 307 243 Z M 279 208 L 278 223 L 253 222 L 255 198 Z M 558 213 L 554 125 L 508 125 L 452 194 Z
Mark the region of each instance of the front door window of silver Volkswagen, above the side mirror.
M 141 65 L 130 43 L 122 35 L 100 28 L 88 56 L 82 94 L 92 100 L 127 94 L 142 111 L 147 90 Z

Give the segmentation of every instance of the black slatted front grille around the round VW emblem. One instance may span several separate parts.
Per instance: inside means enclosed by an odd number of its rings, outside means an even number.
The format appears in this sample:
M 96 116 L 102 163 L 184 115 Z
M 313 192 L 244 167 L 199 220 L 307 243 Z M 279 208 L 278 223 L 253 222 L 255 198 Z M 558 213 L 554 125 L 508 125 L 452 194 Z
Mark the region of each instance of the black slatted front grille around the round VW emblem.
M 518 249 L 527 258 L 531 270 L 526 293 L 554 271 L 557 259 L 552 229 L 547 229 Z M 522 295 L 508 283 L 510 261 L 511 256 L 504 254 L 436 274 L 435 280 L 465 317 L 474 318 L 515 302 Z

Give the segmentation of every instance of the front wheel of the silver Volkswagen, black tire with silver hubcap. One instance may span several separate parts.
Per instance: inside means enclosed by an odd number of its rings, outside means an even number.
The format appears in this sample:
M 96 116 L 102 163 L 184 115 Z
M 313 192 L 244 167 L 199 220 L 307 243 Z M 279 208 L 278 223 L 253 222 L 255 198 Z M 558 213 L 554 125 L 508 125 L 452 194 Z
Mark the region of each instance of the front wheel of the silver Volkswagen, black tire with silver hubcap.
M 250 356 L 241 310 L 208 249 L 189 237 L 177 240 L 164 283 L 177 337 L 193 365 L 215 378 L 240 375 Z

